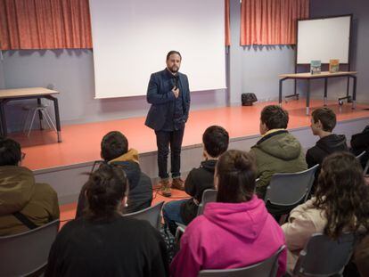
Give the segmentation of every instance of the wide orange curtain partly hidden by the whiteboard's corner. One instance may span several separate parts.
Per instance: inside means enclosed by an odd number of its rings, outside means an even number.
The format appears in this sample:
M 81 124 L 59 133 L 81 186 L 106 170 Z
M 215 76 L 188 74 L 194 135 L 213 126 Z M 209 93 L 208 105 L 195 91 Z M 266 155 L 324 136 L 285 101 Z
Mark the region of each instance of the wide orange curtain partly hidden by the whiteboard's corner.
M 309 0 L 242 0 L 241 45 L 295 45 L 296 22 Z

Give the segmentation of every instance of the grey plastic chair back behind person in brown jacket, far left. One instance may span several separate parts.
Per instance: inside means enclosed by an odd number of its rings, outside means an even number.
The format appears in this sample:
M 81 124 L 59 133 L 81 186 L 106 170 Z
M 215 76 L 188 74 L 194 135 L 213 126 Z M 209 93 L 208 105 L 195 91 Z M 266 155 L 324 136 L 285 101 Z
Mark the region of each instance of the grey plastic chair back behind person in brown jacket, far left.
M 29 276 L 45 270 L 59 219 L 36 229 L 0 237 L 0 276 Z

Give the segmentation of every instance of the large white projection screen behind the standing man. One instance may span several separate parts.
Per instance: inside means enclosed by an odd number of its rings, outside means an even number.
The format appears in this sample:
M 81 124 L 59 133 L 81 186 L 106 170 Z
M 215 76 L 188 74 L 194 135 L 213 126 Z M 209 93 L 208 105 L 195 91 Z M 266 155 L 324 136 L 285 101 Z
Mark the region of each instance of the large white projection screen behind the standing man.
M 145 95 L 170 50 L 191 91 L 225 88 L 224 0 L 90 0 L 95 98 Z

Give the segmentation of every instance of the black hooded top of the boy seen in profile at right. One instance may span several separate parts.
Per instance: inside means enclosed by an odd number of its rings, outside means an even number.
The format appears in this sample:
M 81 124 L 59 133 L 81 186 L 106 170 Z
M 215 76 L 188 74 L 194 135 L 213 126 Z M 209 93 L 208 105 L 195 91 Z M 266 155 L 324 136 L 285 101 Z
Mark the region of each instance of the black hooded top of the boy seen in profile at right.
M 325 157 L 337 151 L 348 151 L 344 134 L 330 134 L 322 137 L 314 147 L 307 150 L 307 167 L 321 165 Z

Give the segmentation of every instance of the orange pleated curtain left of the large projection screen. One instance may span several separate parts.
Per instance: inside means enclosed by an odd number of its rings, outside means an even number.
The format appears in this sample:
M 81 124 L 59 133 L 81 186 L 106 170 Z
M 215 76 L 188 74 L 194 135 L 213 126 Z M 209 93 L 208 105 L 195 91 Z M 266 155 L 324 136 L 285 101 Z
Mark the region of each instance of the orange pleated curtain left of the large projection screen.
M 92 48 L 88 0 L 0 0 L 0 49 Z

